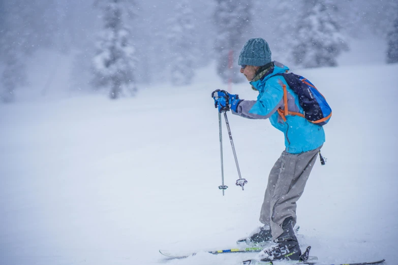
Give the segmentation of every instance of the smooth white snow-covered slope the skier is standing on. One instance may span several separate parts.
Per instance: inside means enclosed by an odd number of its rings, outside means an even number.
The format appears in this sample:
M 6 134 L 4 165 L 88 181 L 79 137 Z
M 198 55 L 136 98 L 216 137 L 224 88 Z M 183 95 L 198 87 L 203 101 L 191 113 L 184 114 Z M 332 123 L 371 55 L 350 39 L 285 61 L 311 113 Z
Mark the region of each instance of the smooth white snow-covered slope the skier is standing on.
M 253 254 L 167 260 L 158 249 L 234 246 L 259 225 L 283 135 L 229 114 L 245 190 L 203 69 L 190 87 L 0 105 L 0 264 L 237 264 Z M 333 117 L 298 201 L 301 247 L 339 263 L 398 258 L 395 106 L 398 65 L 296 70 L 326 96 Z M 233 87 L 254 99 L 248 84 Z

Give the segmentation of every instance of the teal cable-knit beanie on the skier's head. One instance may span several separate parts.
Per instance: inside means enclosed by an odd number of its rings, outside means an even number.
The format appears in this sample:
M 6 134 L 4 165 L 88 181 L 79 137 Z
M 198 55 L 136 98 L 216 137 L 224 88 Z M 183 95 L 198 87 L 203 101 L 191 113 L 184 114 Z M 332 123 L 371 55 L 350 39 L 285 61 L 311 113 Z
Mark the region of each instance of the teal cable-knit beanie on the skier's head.
M 243 45 L 239 54 L 239 65 L 263 66 L 268 62 L 271 62 L 271 51 L 264 39 L 250 39 Z

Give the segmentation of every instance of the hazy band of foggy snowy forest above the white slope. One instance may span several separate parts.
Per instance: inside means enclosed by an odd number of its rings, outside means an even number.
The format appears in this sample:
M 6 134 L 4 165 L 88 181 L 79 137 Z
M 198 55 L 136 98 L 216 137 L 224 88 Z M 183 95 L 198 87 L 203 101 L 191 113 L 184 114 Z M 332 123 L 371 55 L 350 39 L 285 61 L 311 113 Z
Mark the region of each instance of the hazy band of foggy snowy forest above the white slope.
M 362 54 L 348 64 L 396 62 L 397 5 L 396 0 L 3 0 L 0 97 L 9 103 L 51 92 L 139 96 L 149 84 L 190 84 L 196 70 L 211 63 L 224 83 L 244 82 L 236 74 L 237 57 L 244 42 L 257 37 L 269 43 L 273 60 L 291 69 L 337 66 L 342 54 L 361 44 Z

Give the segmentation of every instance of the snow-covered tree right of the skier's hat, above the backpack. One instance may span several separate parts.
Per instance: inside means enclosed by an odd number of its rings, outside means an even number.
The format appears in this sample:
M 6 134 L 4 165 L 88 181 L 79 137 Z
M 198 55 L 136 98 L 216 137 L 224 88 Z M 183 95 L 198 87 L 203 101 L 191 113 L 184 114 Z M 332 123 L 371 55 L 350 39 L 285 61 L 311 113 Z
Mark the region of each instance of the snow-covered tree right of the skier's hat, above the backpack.
M 330 0 L 304 0 L 292 55 L 304 68 L 336 66 L 336 58 L 348 45 L 335 20 L 338 8 Z

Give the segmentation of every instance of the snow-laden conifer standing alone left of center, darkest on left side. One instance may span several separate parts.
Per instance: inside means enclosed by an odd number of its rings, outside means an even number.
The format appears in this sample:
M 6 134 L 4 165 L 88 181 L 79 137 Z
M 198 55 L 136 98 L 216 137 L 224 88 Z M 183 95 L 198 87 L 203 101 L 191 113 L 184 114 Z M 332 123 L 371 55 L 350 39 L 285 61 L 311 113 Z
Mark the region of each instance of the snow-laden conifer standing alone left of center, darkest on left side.
M 109 95 L 117 98 L 134 95 L 136 58 L 128 19 L 135 16 L 134 0 L 97 0 L 95 5 L 102 11 L 104 29 L 99 36 L 94 57 L 94 84 L 110 87 Z

